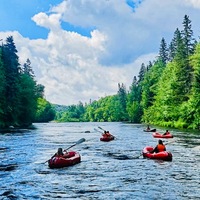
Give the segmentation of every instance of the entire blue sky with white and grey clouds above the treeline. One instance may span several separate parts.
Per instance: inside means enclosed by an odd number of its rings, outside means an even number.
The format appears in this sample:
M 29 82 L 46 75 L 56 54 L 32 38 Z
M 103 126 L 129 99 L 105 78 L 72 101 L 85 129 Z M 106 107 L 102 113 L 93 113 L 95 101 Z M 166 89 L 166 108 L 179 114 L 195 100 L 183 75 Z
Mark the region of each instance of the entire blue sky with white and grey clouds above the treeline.
M 184 15 L 198 40 L 198 0 L 1 0 L 0 39 L 13 36 L 48 101 L 71 105 L 128 90 Z

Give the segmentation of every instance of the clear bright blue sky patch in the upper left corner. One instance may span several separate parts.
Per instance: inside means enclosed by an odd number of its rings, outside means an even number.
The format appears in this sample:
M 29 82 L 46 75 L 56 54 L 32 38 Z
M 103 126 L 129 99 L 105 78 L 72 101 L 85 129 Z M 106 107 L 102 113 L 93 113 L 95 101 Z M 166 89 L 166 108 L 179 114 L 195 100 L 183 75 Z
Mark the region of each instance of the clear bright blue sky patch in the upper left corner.
M 38 12 L 48 12 L 62 0 L 1 0 L 0 31 L 18 30 L 24 37 L 46 38 L 48 30 L 31 20 Z

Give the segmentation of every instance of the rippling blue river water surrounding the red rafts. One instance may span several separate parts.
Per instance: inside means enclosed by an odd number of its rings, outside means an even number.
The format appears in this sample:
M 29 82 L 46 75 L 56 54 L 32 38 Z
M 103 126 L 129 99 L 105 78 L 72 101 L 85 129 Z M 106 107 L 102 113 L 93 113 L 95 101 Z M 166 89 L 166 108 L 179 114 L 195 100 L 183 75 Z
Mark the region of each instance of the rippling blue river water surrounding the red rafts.
M 157 144 L 140 124 L 34 125 L 35 130 L 0 134 L 0 199 L 200 199 L 199 133 L 170 130 L 174 138 L 164 142 L 173 160 L 167 162 L 140 156 L 145 146 Z M 100 141 L 98 127 L 116 139 Z M 86 141 L 71 148 L 81 154 L 81 163 L 48 167 L 45 161 L 58 147 L 68 148 L 81 138 Z

